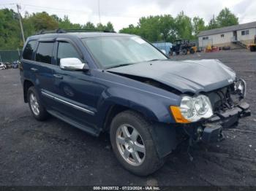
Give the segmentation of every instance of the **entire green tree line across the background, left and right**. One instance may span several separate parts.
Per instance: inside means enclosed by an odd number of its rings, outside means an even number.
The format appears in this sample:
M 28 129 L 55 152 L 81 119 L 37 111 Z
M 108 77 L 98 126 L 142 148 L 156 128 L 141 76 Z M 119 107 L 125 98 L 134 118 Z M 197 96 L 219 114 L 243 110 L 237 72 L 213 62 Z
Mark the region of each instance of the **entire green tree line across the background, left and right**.
M 49 15 L 47 12 L 29 14 L 22 17 L 25 38 L 41 30 L 64 29 L 97 29 L 114 31 L 113 24 L 106 25 L 87 22 L 84 25 L 72 23 L 66 15 Z M 136 34 L 149 42 L 173 42 L 175 39 L 196 39 L 200 31 L 238 24 L 238 17 L 225 8 L 213 17 L 208 24 L 201 17 L 189 17 L 180 12 L 176 17 L 172 15 L 157 15 L 140 17 L 138 24 L 129 25 L 119 32 Z M 0 9 L 0 50 L 10 50 L 23 47 L 20 33 L 18 13 L 12 9 Z

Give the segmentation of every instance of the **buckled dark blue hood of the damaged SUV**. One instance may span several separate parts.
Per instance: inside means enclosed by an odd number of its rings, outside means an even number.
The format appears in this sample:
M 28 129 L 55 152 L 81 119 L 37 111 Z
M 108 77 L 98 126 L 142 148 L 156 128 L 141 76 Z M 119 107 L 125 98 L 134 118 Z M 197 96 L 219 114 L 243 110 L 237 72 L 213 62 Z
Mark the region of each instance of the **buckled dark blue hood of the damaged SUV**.
M 107 71 L 154 79 L 181 93 L 216 90 L 230 85 L 236 79 L 236 73 L 219 60 L 151 61 Z

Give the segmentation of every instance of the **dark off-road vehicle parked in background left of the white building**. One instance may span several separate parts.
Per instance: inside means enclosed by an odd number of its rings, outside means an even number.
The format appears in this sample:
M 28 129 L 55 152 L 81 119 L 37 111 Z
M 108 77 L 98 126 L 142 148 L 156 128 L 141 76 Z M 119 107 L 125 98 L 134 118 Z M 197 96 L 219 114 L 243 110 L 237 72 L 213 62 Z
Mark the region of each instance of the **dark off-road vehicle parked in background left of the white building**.
M 173 52 L 175 52 L 176 55 L 181 53 L 187 55 L 187 52 L 194 54 L 197 52 L 197 47 L 194 42 L 189 42 L 188 39 L 178 39 L 173 43 L 173 47 L 170 49 L 170 55 L 173 55 Z

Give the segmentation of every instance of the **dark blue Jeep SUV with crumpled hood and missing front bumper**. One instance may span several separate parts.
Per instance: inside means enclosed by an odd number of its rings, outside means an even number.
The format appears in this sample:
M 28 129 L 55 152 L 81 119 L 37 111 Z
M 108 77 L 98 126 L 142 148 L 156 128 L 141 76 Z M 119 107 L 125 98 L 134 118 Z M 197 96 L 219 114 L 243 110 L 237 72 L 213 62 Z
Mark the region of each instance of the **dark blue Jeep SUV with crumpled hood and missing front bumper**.
M 23 48 L 24 101 L 37 120 L 58 117 L 110 133 L 118 161 L 148 175 L 184 139 L 220 141 L 249 116 L 246 83 L 218 60 L 172 61 L 139 36 L 41 32 Z

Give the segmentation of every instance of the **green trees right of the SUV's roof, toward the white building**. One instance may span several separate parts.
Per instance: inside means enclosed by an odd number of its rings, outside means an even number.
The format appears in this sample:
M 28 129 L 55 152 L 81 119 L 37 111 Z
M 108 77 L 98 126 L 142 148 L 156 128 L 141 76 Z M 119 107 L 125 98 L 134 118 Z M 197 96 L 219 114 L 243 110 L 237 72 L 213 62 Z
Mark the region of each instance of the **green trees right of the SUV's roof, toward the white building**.
M 238 17 L 230 9 L 222 9 L 217 17 L 213 17 L 208 25 L 201 17 L 189 17 L 180 12 L 176 17 L 172 15 L 157 15 L 141 17 L 138 25 L 122 28 L 121 33 L 137 34 L 149 42 L 173 42 L 176 39 L 197 39 L 200 31 L 225 26 L 238 25 Z

